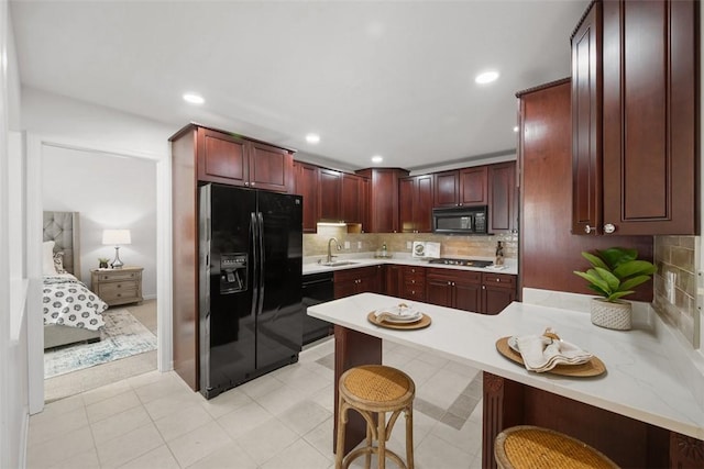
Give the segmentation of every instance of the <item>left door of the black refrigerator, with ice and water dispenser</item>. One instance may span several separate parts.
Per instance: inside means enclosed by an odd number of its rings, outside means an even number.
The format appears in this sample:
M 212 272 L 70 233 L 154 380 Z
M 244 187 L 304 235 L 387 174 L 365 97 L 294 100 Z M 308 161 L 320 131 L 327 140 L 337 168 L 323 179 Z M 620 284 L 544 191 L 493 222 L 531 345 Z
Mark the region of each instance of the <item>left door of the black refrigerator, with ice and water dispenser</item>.
M 201 392 L 212 398 L 254 372 L 253 191 L 210 186 L 209 311 L 201 311 Z M 201 198 L 206 190 L 201 189 Z M 201 219 L 204 214 L 201 214 Z M 201 254 L 202 256 L 202 254 Z M 206 259 L 200 259 L 201 265 Z M 206 282 L 201 282 L 205 288 Z M 205 325 L 205 327 L 204 327 Z M 204 354 L 204 347 L 207 347 Z M 204 356 L 207 362 L 204 362 Z

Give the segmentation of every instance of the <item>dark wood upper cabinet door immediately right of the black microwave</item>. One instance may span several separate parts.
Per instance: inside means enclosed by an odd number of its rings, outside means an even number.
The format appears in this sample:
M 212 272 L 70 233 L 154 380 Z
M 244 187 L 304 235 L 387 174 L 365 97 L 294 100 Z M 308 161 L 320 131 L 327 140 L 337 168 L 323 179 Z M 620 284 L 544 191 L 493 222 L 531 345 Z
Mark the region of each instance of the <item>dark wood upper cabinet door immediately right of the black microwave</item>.
M 516 230 L 517 213 L 516 163 L 488 166 L 490 233 L 508 233 Z

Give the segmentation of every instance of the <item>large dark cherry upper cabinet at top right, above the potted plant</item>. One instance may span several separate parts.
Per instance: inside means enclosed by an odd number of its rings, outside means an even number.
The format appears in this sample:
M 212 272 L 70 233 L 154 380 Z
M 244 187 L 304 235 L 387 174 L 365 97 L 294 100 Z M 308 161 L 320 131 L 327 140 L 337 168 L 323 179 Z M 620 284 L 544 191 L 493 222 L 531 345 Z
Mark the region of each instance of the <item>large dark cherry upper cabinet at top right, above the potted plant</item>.
M 697 233 L 698 8 L 597 1 L 578 26 L 573 233 Z

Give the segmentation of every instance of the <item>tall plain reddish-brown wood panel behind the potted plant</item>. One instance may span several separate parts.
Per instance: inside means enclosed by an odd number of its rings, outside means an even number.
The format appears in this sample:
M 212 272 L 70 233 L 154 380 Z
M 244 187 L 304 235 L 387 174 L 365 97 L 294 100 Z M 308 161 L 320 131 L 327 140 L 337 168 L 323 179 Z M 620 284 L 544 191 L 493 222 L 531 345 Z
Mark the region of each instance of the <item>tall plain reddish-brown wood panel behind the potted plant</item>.
M 518 271 L 524 288 L 594 294 L 572 273 L 588 267 L 583 250 L 614 245 L 634 247 L 652 260 L 652 236 L 576 236 L 570 234 L 572 137 L 570 79 L 518 93 L 520 141 L 520 230 Z M 637 288 L 637 301 L 652 300 L 652 283 Z

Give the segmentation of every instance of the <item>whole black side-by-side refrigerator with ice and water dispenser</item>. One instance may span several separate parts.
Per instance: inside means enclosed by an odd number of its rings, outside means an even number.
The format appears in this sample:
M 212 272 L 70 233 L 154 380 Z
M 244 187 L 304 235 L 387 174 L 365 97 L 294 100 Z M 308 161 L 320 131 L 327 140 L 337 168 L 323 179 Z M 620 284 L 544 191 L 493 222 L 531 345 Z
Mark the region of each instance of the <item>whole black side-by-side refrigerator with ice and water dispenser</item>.
M 296 362 L 302 342 L 302 202 L 199 189 L 200 392 L 211 399 Z

